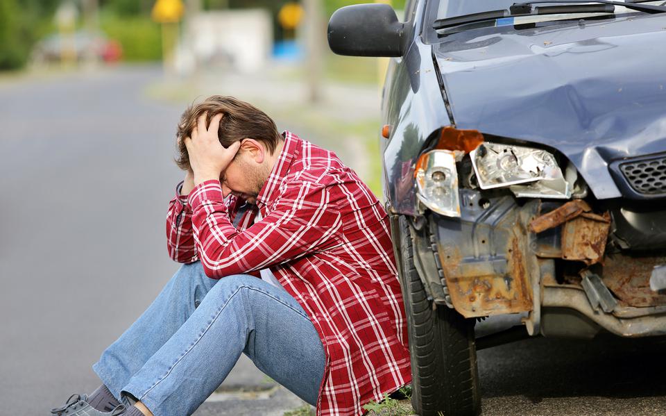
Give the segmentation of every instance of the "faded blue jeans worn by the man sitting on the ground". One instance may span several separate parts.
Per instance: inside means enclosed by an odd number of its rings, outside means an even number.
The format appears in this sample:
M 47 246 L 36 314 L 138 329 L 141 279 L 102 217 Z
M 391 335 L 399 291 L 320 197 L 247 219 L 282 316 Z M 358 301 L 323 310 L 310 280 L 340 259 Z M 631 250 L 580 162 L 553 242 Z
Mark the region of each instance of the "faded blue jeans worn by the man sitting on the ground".
M 93 369 L 118 399 L 129 393 L 155 416 L 182 416 L 214 392 L 241 353 L 316 403 L 326 358 L 296 299 L 246 274 L 208 278 L 197 262 L 176 272 Z

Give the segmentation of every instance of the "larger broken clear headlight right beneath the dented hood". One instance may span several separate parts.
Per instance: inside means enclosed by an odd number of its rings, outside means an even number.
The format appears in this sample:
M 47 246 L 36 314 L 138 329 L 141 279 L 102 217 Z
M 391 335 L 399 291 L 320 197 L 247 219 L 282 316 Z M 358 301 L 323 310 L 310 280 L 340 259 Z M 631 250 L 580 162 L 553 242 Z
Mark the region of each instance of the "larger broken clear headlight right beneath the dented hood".
M 509 187 L 516 197 L 571 197 L 571 186 L 548 151 L 484 142 L 470 158 L 481 189 Z

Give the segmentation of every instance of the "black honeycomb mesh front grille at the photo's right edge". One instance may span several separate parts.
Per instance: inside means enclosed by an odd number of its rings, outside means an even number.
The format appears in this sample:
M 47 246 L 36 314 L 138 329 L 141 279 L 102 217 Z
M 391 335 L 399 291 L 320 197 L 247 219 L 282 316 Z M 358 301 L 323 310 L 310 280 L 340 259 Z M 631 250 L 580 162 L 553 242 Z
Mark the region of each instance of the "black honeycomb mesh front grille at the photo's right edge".
M 666 194 L 666 155 L 621 163 L 620 170 L 631 188 L 643 195 Z

